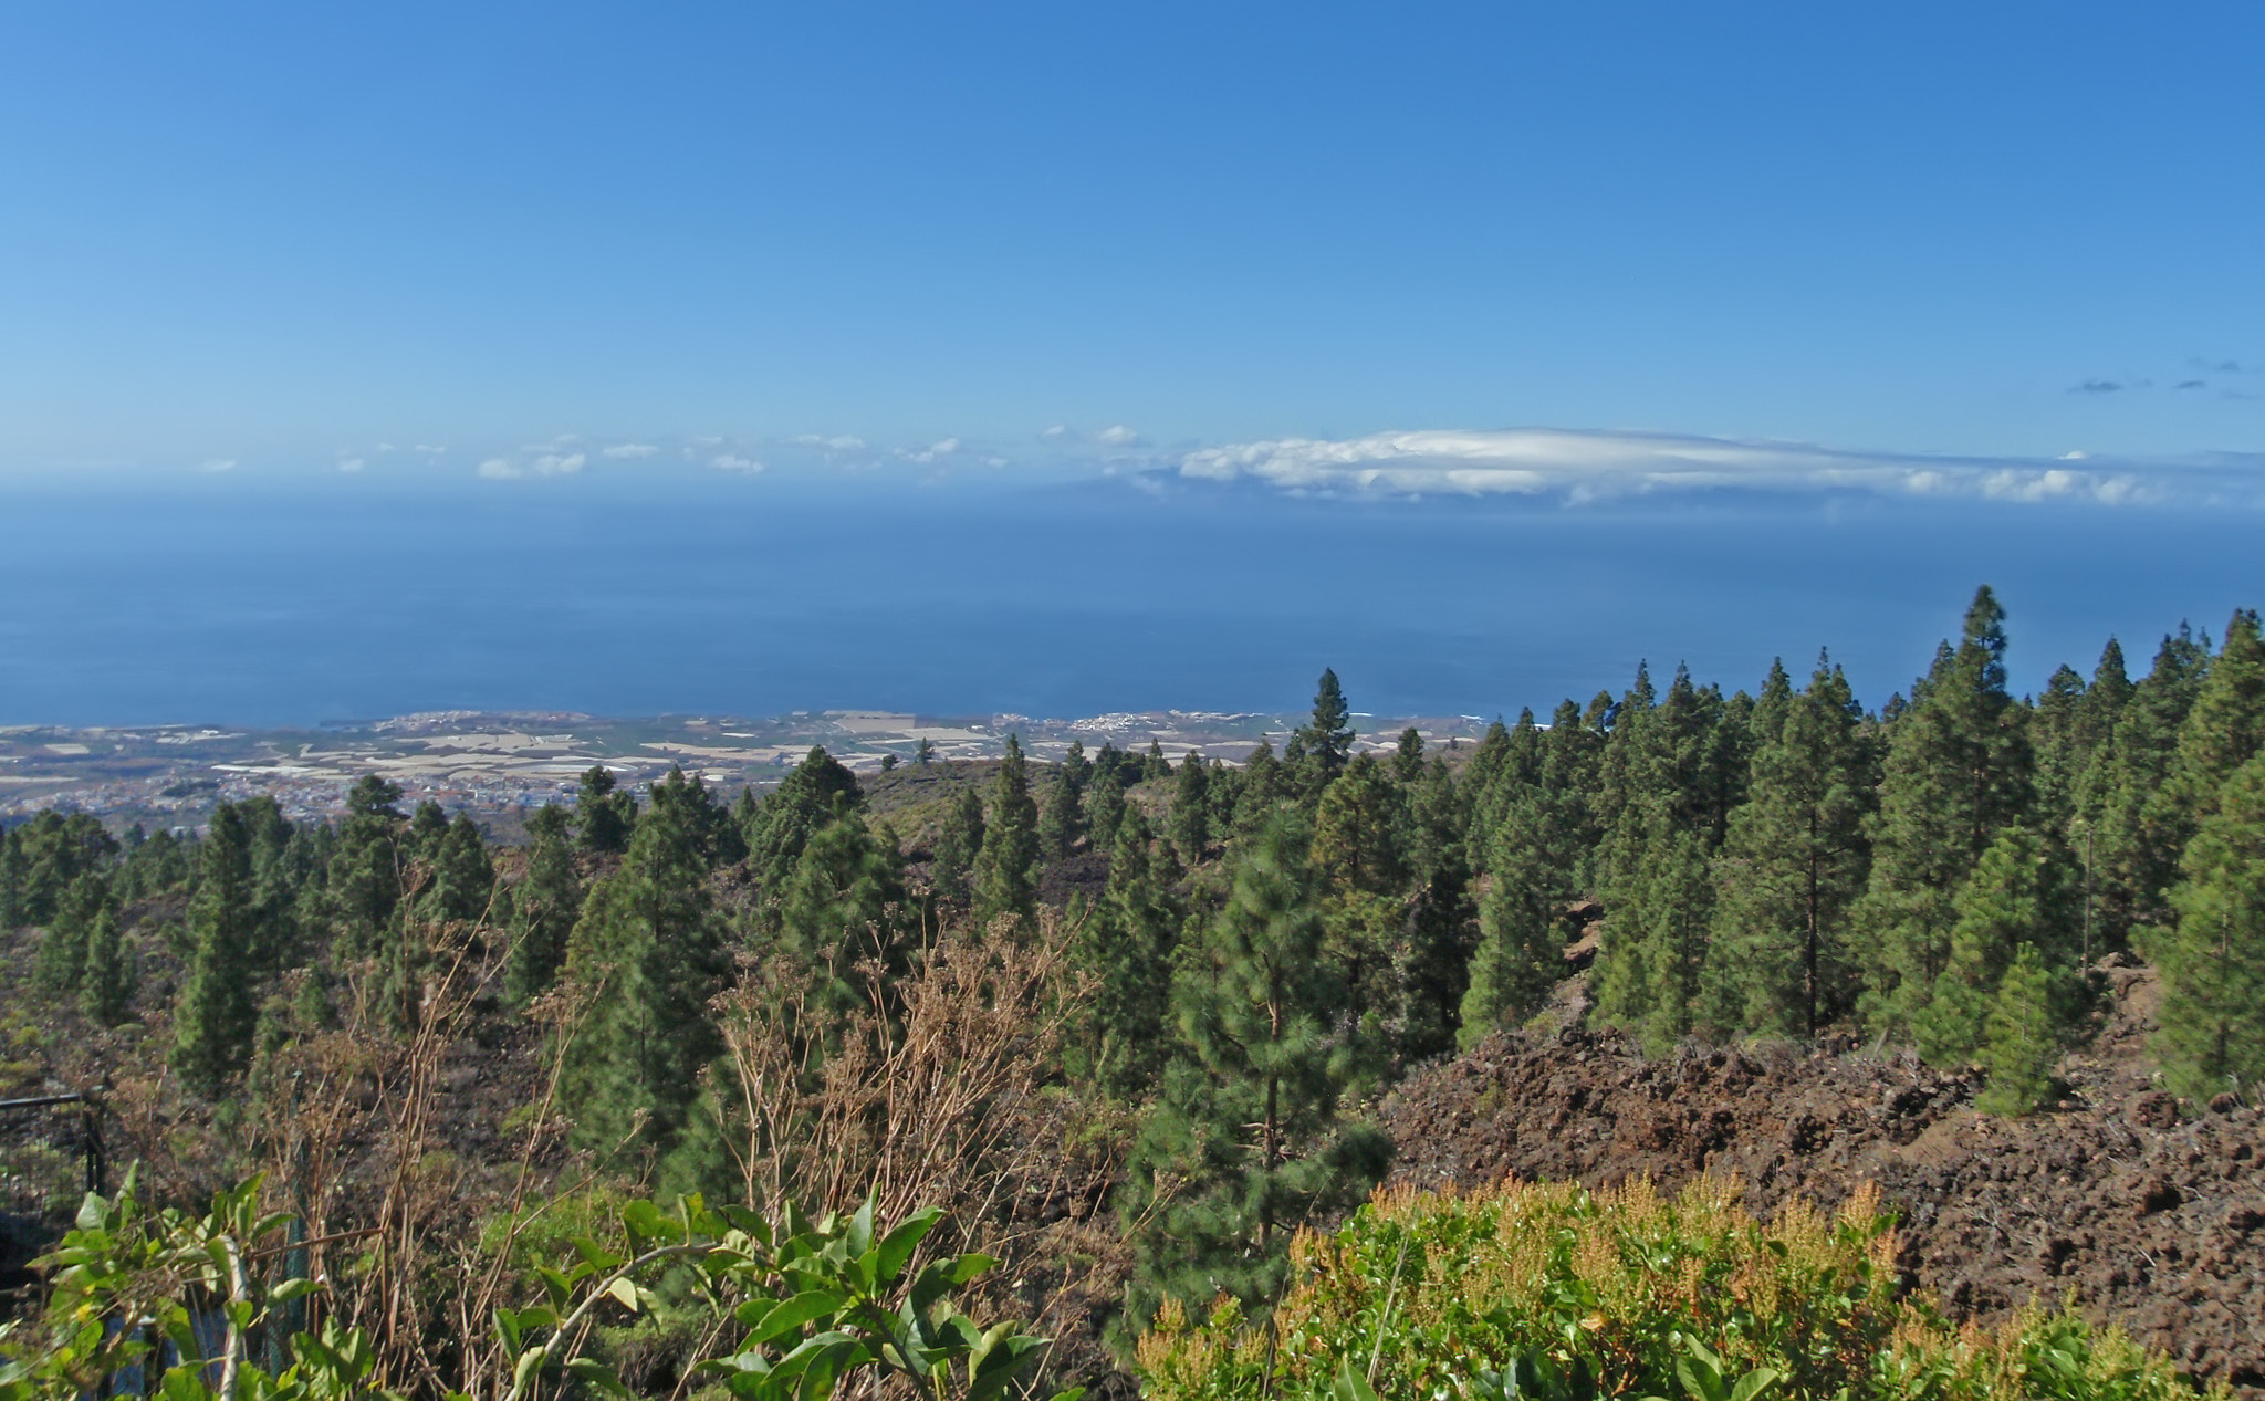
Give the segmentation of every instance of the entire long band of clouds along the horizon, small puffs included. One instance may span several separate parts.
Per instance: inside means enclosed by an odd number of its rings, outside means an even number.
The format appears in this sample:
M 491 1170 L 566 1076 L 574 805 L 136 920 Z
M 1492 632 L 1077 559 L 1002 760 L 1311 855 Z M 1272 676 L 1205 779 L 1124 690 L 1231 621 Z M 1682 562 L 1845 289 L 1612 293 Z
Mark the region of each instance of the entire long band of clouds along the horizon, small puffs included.
M 238 473 L 238 464 L 245 473 Z M 165 473 L 163 464 L 147 464 Z M 306 462 L 251 453 L 204 453 L 174 469 L 195 475 L 292 475 Z M 609 441 L 562 432 L 516 446 L 458 453 L 392 444 L 337 448 L 324 475 L 480 478 L 539 491 L 562 480 L 607 478 L 616 487 L 668 491 L 686 473 L 757 478 L 824 491 L 865 480 L 867 489 L 915 484 L 1046 487 L 1128 482 L 1144 491 L 1243 487 L 1300 498 L 1404 500 L 1495 498 L 1536 505 L 1610 505 L 1740 496 L 1869 496 L 1937 502 L 2061 502 L 2088 507 L 2265 509 L 2265 453 L 2136 457 L 2061 453 L 2052 457 L 1891 453 L 1780 439 L 1728 439 L 1692 432 L 1583 428 L 1422 428 L 1361 437 L 1275 437 L 1241 444 L 1153 441 L 1112 423 L 1099 430 L 1049 428 L 1024 441 L 947 435 L 908 444 L 854 435 L 668 437 Z M 134 471 L 131 462 L 57 462 L 29 478 L 93 480 Z M 23 473 L 18 473 L 23 475 Z M 0 475 L 5 482 L 5 475 Z M 892 487 L 890 487 L 892 489 Z

